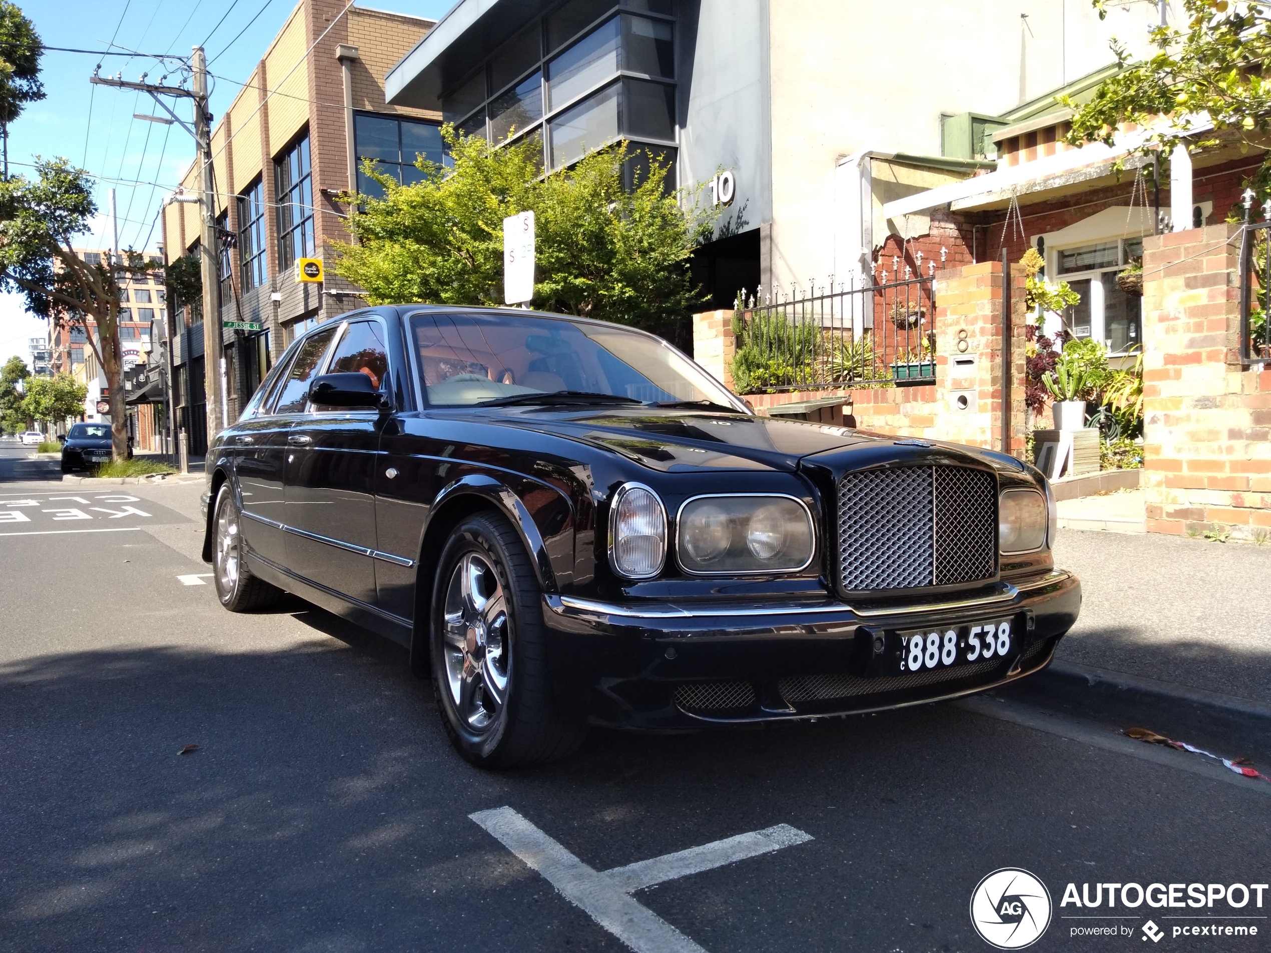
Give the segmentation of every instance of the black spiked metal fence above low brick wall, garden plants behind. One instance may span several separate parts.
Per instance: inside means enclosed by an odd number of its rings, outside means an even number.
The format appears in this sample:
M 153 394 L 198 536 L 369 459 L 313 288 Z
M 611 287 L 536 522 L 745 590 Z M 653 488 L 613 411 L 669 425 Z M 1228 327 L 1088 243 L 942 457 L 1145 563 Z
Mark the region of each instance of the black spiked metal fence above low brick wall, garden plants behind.
M 935 381 L 935 278 L 816 288 L 733 311 L 738 394 Z

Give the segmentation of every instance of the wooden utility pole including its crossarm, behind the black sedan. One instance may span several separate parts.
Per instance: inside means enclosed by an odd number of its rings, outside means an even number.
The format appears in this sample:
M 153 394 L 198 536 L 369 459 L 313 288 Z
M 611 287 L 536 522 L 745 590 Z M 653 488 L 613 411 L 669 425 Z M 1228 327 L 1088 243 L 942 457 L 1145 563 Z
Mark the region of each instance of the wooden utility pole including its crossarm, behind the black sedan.
M 131 83 L 116 75 L 113 78 L 100 76 L 97 71 L 89 78 L 89 83 L 100 86 L 116 86 L 117 89 L 136 89 L 149 93 L 155 103 L 172 117 L 173 122 L 194 137 L 194 146 L 200 165 L 200 212 L 203 216 L 202 239 L 200 240 L 200 255 L 203 281 L 203 393 L 207 407 L 207 442 L 220 433 L 224 427 L 222 407 L 225 395 L 222 388 L 221 365 L 224 357 L 224 344 L 221 342 L 221 315 L 217 306 L 219 282 L 216 280 L 216 255 L 219 243 L 216 240 L 216 205 L 215 183 L 212 179 L 212 136 L 211 122 L 207 112 L 207 58 L 202 47 L 193 47 L 191 56 L 191 70 L 193 72 L 193 89 L 183 86 L 160 86 L 154 83 L 145 83 L 145 76 L 140 81 Z M 182 97 L 192 99 L 194 105 L 194 126 L 184 122 L 160 97 Z M 149 117 L 141 117 L 149 118 Z M 144 250 L 144 249 L 142 249 Z

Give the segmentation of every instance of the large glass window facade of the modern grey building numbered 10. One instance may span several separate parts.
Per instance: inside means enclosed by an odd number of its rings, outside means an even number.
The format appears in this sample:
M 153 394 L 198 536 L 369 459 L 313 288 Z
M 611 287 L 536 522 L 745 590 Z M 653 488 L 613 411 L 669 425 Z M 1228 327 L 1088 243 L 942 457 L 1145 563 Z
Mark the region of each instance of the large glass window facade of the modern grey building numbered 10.
M 442 116 L 492 142 L 535 137 L 561 169 L 627 139 L 665 155 L 675 183 L 671 0 L 567 0 L 442 94 Z M 628 180 L 647 165 L 630 160 Z

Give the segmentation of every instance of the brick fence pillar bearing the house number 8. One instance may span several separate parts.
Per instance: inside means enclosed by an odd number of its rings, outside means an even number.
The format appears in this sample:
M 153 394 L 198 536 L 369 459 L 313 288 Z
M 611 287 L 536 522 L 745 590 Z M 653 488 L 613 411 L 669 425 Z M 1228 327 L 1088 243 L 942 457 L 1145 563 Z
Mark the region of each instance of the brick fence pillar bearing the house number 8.
M 942 440 L 1024 455 L 1024 276 L 1012 268 L 1010 400 L 1003 408 L 1002 262 L 935 276 L 935 432 Z

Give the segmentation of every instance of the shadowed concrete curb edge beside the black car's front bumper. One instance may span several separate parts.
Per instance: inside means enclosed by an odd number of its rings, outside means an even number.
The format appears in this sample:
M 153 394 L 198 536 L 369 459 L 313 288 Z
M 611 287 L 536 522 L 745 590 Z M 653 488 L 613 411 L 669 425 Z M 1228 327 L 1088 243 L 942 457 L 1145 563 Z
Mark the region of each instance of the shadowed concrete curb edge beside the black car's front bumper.
M 1199 719 L 1209 727 L 1243 728 L 1254 719 L 1271 729 L 1271 705 L 1261 701 L 1071 662 L 1052 662 L 1023 685 L 1056 701 L 1089 705 L 1131 720 Z

